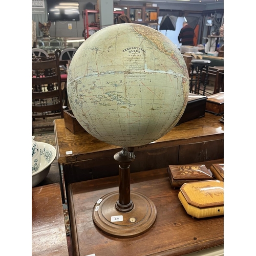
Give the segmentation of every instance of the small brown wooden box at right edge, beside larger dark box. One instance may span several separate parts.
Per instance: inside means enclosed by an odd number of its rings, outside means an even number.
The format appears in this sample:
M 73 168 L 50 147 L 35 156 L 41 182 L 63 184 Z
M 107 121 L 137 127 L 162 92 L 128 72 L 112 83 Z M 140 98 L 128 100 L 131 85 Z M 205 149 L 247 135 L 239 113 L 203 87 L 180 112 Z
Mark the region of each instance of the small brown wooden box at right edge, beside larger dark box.
M 224 113 L 224 92 L 208 96 L 205 111 L 218 116 L 222 115 Z

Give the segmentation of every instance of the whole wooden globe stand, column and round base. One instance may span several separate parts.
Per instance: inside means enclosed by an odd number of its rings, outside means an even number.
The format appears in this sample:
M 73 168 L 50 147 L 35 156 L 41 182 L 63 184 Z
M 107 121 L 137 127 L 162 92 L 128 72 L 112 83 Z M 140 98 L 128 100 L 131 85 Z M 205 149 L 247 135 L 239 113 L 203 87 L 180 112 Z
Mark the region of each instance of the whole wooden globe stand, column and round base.
M 103 233 L 117 238 L 139 236 L 155 223 L 157 209 L 146 196 L 130 190 L 130 163 L 135 159 L 129 147 L 114 155 L 119 162 L 119 191 L 100 198 L 93 207 L 93 222 Z

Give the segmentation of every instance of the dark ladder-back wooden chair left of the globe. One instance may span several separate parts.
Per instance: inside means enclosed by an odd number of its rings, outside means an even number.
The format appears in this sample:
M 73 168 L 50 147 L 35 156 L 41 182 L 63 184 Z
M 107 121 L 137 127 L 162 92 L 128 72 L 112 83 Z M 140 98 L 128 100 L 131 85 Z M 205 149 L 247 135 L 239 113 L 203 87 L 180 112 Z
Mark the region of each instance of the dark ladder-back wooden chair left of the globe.
M 36 118 L 63 118 L 59 56 L 60 50 L 56 50 L 55 56 L 32 58 L 32 132 Z M 53 125 L 36 126 L 43 127 Z

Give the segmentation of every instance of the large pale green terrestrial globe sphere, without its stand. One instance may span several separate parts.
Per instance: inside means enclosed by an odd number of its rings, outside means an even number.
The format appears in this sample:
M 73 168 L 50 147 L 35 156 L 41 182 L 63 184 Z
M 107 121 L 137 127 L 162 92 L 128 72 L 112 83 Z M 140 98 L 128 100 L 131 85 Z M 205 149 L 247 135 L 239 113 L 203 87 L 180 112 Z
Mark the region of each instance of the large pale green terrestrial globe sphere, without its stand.
M 159 31 L 117 24 L 97 31 L 69 66 L 67 92 L 82 127 L 112 145 L 132 147 L 169 132 L 187 104 L 189 77 L 179 49 Z

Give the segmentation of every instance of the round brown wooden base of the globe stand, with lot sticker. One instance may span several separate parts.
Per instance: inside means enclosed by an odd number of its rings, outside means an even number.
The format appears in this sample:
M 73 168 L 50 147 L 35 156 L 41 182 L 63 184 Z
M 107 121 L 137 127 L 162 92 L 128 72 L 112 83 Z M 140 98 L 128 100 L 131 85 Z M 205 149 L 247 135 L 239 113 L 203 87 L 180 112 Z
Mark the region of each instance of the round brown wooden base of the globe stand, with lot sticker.
M 93 207 L 93 222 L 103 233 L 116 238 L 132 238 L 145 233 L 155 223 L 157 209 L 146 196 L 131 191 L 134 207 L 129 212 L 118 211 L 117 200 L 118 191 L 115 191 L 103 196 Z

